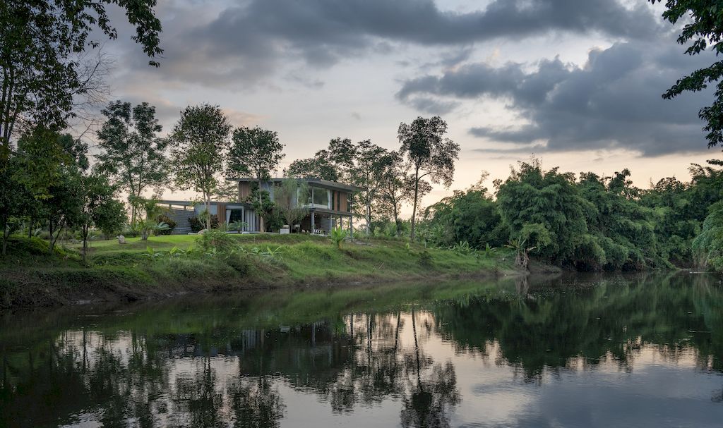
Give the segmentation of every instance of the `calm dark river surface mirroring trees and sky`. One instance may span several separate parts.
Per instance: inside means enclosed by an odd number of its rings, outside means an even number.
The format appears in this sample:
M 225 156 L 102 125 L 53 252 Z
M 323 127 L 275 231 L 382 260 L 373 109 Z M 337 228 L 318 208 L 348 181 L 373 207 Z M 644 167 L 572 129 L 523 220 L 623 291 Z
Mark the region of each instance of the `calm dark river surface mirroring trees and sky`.
M 719 277 L 0 314 L 5 427 L 723 427 Z

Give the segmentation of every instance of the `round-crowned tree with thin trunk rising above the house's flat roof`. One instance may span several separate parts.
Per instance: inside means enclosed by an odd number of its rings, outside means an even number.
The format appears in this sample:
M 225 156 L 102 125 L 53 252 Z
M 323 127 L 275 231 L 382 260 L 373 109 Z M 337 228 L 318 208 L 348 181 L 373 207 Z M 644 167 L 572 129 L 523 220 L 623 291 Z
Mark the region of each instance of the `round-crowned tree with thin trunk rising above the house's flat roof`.
M 271 178 L 271 171 L 278 167 L 283 159 L 283 144 L 278 141 L 275 131 L 258 126 L 242 126 L 234 131 L 233 143 L 228 153 L 228 171 L 239 175 L 251 175 L 257 180 L 259 188 L 264 180 Z M 261 203 L 259 193 L 259 203 Z M 264 222 L 260 224 L 264 231 Z

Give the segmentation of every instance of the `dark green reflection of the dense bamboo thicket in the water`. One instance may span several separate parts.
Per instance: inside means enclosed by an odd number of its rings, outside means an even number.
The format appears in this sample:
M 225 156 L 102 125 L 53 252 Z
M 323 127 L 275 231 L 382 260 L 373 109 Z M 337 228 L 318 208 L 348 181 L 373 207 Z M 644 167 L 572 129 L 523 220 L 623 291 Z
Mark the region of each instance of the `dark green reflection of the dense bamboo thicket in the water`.
M 721 289 L 700 276 L 594 284 L 565 283 L 552 292 L 556 284 L 549 283 L 542 292 L 531 288 L 532 294 L 507 300 L 474 297 L 436 305 L 437 332 L 458 351 L 489 354 L 499 346 L 500 363 L 518 367 L 527 380 L 539 380 L 543 370 L 607 359 L 630 370 L 642 346 L 654 346 L 675 362 L 693 350 L 701 369 L 723 370 L 722 359 L 711 358 L 723 355 Z M 523 285 L 518 288 L 524 292 Z

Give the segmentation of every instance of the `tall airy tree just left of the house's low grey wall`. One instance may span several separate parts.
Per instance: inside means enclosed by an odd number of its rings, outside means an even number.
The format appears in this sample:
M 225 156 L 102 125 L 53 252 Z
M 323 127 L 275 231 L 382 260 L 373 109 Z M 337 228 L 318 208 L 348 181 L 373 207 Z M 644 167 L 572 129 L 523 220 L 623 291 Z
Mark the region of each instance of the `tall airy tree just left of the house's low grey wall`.
M 158 188 L 168 179 L 168 140 L 157 134 L 163 127 L 155 118 L 155 107 L 142 102 L 114 101 L 103 109 L 106 122 L 98 131 L 98 167 L 114 179 L 129 198 L 142 198 L 147 188 Z M 136 219 L 131 204 L 131 222 Z

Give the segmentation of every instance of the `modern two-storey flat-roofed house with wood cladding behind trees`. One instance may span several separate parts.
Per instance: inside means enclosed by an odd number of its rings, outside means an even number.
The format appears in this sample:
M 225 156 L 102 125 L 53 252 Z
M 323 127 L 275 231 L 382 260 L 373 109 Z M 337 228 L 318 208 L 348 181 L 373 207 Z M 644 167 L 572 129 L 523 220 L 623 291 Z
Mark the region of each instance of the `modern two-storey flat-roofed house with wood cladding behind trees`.
M 246 222 L 243 232 L 260 232 L 261 219 L 254 211 L 250 201 L 253 189 L 257 187 L 254 178 L 228 178 L 239 184 L 240 202 L 212 202 L 210 214 L 218 216 L 219 222 Z M 274 190 L 285 180 L 272 178 L 261 183 L 262 191 L 268 191 L 271 200 L 274 200 Z M 306 232 L 327 234 L 334 227 L 344 227 L 351 230 L 354 220 L 351 214 L 351 201 L 354 193 L 360 189 L 353 185 L 335 183 L 333 181 L 319 180 L 317 178 L 303 178 L 299 181 L 305 183 L 309 189 L 309 198 L 301 202 L 301 206 L 309 210 L 299 224 L 290 224 L 291 232 Z M 166 206 L 168 217 L 176 222 L 174 233 L 185 234 L 192 232 L 190 217 L 197 217 L 202 213 L 204 206 L 192 201 L 158 201 Z M 267 230 L 267 232 L 269 232 Z

